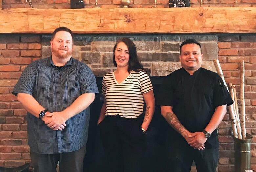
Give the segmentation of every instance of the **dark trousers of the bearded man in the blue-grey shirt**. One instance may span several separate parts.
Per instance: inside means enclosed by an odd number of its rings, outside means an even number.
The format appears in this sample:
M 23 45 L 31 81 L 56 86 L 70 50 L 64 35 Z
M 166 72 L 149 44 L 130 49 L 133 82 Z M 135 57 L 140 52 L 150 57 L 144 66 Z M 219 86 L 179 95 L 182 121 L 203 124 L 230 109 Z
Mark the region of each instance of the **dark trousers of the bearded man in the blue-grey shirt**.
M 58 162 L 60 172 L 83 172 L 85 151 L 86 147 L 56 154 L 38 154 L 30 151 L 30 157 L 34 172 L 56 172 Z

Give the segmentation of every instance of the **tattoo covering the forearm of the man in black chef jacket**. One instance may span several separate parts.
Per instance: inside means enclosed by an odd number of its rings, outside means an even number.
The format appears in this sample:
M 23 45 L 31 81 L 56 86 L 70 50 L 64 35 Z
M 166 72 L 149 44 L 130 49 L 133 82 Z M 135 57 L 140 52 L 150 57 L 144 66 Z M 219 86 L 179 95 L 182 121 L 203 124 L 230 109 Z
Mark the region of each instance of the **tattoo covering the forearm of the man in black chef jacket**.
M 174 113 L 167 112 L 166 113 L 166 121 L 175 129 L 178 133 L 180 133 L 183 137 L 188 136 L 188 132 L 185 127 L 181 124 L 179 119 Z

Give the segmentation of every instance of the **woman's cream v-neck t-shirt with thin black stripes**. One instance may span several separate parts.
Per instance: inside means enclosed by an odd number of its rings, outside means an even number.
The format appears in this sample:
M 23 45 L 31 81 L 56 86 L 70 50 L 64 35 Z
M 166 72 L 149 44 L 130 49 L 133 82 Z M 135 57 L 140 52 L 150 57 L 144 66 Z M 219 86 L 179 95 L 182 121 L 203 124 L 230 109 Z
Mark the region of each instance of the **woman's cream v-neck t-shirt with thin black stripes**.
M 120 84 L 114 72 L 106 74 L 102 80 L 102 94 L 106 99 L 105 115 L 119 114 L 126 118 L 136 118 L 143 113 L 142 94 L 152 89 L 152 83 L 143 70 L 132 71 Z

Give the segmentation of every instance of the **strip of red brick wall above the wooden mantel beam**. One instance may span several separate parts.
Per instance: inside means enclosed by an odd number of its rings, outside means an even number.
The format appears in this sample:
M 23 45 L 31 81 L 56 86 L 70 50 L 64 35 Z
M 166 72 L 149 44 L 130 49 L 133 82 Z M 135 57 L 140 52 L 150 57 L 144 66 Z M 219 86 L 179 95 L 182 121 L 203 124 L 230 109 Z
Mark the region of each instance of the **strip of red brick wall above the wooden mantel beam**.
M 23 8 L 26 0 L 3 0 L 2 8 Z M 101 8 L 119 8 L 120 0 L 97 0 Z M 131 0 L 130 7 L 153 8 L 154 0 Z M 203 0 L 203 7 L 232 7 L 234 0 Z M 84 0 L 85 8 L 92 8 L 95 0 Z M 158 7 L 169 7 L 169 0 L 157 0 Z M 191 7 L 199 7 L 200 0 L 190 0 Z M 255 0 L 238 0 L 240 7 L 255 7 Z M 53 0 L 32 0 L 34 8 L 52 8 Z M 59 9 L 70 8 L 70 0 L 55 0 Z M 29 8 L 29 5 L 27 5 Z

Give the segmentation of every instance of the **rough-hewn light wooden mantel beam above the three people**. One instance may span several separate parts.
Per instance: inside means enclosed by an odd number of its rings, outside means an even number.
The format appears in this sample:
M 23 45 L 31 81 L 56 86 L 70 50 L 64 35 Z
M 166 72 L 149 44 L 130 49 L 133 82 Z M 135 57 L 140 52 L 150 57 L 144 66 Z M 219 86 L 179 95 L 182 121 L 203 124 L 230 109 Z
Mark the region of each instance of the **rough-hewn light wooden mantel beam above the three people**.
M 0 10 L 0 33 L 255 33 L 255 7 Z

